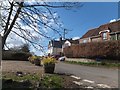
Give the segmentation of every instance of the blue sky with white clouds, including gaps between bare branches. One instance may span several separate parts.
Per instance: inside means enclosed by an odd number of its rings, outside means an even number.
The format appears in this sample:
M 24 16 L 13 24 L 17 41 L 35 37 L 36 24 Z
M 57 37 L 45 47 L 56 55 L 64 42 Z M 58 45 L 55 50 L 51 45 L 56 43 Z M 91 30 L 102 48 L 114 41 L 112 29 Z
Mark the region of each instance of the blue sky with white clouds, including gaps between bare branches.
M 33 2 L 29 2 L 29 3 L 33 4 Z M 56 3 L 56 5 L 59 5 L 59 4 L 61 3 L 60 2 Z M 67 33 L 66 38 L 74 38 L 74 37 L 80 38 L 88 30 L 99 27 L 102 24 L 109 23 L 110 20 L 118 19 L 118 2 L 81 2 L 81 4 L 83 5 L 82 7 L 73 9 L 73 10 L 66 10 L 63 8 L 54 8 L 54 9 L 52 8 L 54 12 L 53 17 L 54 18 L 60 17 L 59 20 L 57 20 L 58 24 L 62 24 L 64 28 L 70 30 Z M 8 6 L 5 2 L 4 2 L 4 5 Z M 50 18 L 51 14 L 48 13 L 49 11 L 47 12 L 46 8 L 45 9 L 40 8 L 40 10 L 44 12 L 43 14 L 47 18 L 41 17 L 39 19 L 42 20 L 44 23 L 49 22 L 47 23 L 48 26 L 55 29 L 59 29 L 59 27 L 54 23 L 53 18 Z M 7 12 L 5 13 L 3 10 L 2 15 L 5 15 L 5 14 L 7 14 Z M 37 18 L 35 14 L 34 14 L 34 18 Z M 47 49 L 48 49 L 47 46 L 50 39 L 45 39 L 44 37 L 38 35 L 29 26 L 21 23 L 20 20 L 21 19 L 17 19 L 17 22 L 19 22 L 19 24 L 22 25 L 22 28 L 29 30 L 32 33 L 32 35 L 35 38 L 37 38 L 35 42 L 45 46 L 45 52 L 47 52 Z M 45 26 L 42 26 L 39 23 L 30 23 L 30 25 L 32 25 L 32 27 L 35 28 L 35 30 L 41 31 L 45 35 L 50 35 L 52 39 L 60 38 L 60 36 L 58 36 L 58 33 L 54 33 L 53 30 L 50 30 L 50 28 L 46 28 Z M 34 25 L 36 25 L 36 27 L 34 27 Z M 13 30 L 16 31 L 15 28 Z M 2 33 L 4 32 L 1 31 L 0 34 L 2 35 Z M 17 31 L 17 33 L 21 34 L 20 31 Z M 14 36 L 14 39 L 13 39 L 13 36 Z M 29 35 L 26 35 L 26 36 L 29 36 Z M 14 47 L 14 46 L 17 47 L 23 43 L 26 43 L 25 40 L 23 40 L 22 38 L 20 38 L 14 33 L 10 33 L 9 38 L 7 39 L 6 42 L 9 47 Z M 32 46 L 30 47 L 30 50 L 31 52 L 34 52 L 37 55 L 43 54 L 41 53 L 41 51 L 36 50 Z

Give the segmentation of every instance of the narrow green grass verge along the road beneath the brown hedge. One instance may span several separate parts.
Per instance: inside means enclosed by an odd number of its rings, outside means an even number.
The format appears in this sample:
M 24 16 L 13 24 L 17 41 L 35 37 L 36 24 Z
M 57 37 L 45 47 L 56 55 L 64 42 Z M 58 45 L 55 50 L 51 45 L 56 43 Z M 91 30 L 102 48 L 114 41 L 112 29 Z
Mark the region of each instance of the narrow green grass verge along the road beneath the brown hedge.
M 65 61 L 70 64 L 78 64 L 85 66 L 104 66 L 104 67 L 120 67 L 120 63 L 108 63 L 108 62 L 77 62 L 77 61 Z

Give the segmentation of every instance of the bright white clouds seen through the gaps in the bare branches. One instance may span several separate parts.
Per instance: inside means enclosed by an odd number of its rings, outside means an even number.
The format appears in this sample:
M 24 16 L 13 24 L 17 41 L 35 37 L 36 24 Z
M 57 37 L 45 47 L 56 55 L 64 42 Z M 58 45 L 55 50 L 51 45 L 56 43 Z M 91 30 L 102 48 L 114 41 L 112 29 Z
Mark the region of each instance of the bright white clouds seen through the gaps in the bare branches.
M 33 1 L 34 1 L 34 0 L 33 0 Z M 5 3 L 4 3 L 4 4 L 5 4 Z M 9 3 L 7 3 L 7 4 L 9 4 Z M 31 4 L 33 4 L 33 3 L 31 3 Z M 41 3 L 41 4 L 42 4 L 42 3 Z M 7 5 L 6 5 L 6 6 L 7 6 Z M 16 9 L 14 9 L 14 10 L 16 11 Z M 2 11 L 2 15 L 5 16 L 5 17 L 7 17 L 8 13 L 9 13 L 8 11 L 7 11 L 7 12 Z M 27 13 L 29 13 L 29 12 L 27 12 Z M 29 14 L 30 14 L 30 13 L 29 13 Z M 34 18 L 36 18 L 36 19 L 40 18 L 40 20 L 42 20 L 44 23 L 47 23 L 47 25 L 50 26 L 50 27 L 52 27 L 52 28 L 57 28 L 57 29 L 59 28 L 59 27 L 55 24 L 54 20 L 51 18 L 51 14 L 49 14 L 49 12 L 47 12 L 47 11 L 45 11 L 44 16 L 38 17 L 38 15 L 35 15 L 35 14 L 33 14 L 33 16 L 34 16 Z M 21 16 L 19 15 L 19 17 L 21 17 Z M 27 18 L 27 16 L 25 16 L 25 17 Z M 58 17 L 57 13 L 53 13 L 53 17 L 54 17 L 54 18 L 57 18 L 57 17 Z M 11 17 L 11 19 L 13 19 L 13 18 L 14 18 L 14 16 Z M 35 23 L 30 24 L 30 26 L 31 26 L 32 28 L 34 28 L 36 31 L 39 32 L 39 27 L 41 27 L 40 29 L 42 30 L 42 33 L 44 33 L 45 35 L 51 36 L 51 32 L 53 32 L 53 31 L 52 31 L 50 28 L 46 28 L 44 25 L 43 25 L 43 26 L 42 26 L 42 25 L 39 26 L 39 25 L 38 25 L 38 22 L 37 22 L 36 20 L 34 20 L 33 18 L 30 18 L 30 19 L 35 22 Z M 6 19 L 6 20 L 7 20 L 7 19 Z M 33 42 L 36 42 L 36 43 L 40 43 L 40 44 L 42 44 L 42 45 L 44 45 L 44 43 L 48 43 L 47 41 L 45 42 L 45 38 L 44 38 L 43 36 L 39 35 L 38 33 L 36 33 L 36 32 L 34 31 L 34 29 L 30 28 L 30 27 L 27 26 L 27 25 L 24 25 L 24 24 L 21 22 L 21 19 L 20 19 L 20 18 L 17 18 L 17 21 L 16 21 L 16 22 L 22 27 L 22 29 L 24 29 L 24 30 L 27 31 L 27 33 L 24 32 L 24 31 L 21 33 L 20 30 L 13 28 L 12 30 L 15 31 L 16 33 L 18 33 L 19 35 L 23 36 L 23 34 L 24 34 L 27 39 L 29 39 L 29 40 L 31 40 L 31 41 L 33 41 Z M 11 23 L 11 21 L 10 21 L 10 23 Z M 61 23 L 60 21 L 58 21 L 58 20 L 57 20 L 57 23 L 62 25 L 62 23 Z M 35 26 L 36 26 L 36 27 L 35 27 Z M 0 30 L 0 31 L 1 31 L 1 30 Z M 3 33 L 4 33 L 4 32 L 0 32 L 0 34 L 3 34 Z M 34 39 L 34 40 L 31 39 L 31 37 L 30 37 L 29 35 L 32 35 L 35 39 Z M 6 43 L 7 43 L 7 46 L 8 46 L 9 48 L 11 48 L 11 47 L 16 47 L 16 46 L 20 46 L 20 45 L 24 44 L 24 43 L 25 43 L 25 40 L 24 40 L 23 38 L 19 37 L 18 35 L 16 35 L 15 33 L 11 32 L 11 33 L 9 34 L 9 37 L 8 37 L 7 40 L 6 40 Z M 36 46 L 36 47 L 37 47 L 37 46 Z M 37 48 L 39 48 L 39 47 L 37 47 Z M 37 53 L 38 53 L 38 51 L 36 51 L 35 49 L 33 49 L 33 47 L 30 48 L 30 49 L 31 49 L 31 51 L 34 51 L 34 52 L 37 52 Z M 39 49 L 40 49 L 40 48 L 39 48 Z

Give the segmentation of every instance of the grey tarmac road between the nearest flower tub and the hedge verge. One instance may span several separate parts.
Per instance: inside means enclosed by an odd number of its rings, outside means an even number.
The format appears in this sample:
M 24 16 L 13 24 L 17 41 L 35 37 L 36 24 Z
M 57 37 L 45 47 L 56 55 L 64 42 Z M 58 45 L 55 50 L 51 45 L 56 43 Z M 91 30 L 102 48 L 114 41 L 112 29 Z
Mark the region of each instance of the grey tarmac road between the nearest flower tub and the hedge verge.
M 74 74 L 82 79 L 118 88 L 118 69 L 89 67 L 59 62 L 56 64 L 55 72 Z

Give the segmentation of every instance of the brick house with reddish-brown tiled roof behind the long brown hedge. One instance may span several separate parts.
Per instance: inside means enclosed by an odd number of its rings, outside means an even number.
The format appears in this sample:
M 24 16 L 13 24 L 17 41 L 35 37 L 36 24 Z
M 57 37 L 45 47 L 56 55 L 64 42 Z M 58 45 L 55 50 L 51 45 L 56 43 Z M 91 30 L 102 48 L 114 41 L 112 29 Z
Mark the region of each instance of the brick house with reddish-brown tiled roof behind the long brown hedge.
M 85 33 L 79 43 L 120 40 L 120 20 L 101 25 Z

